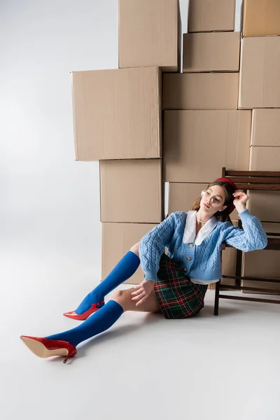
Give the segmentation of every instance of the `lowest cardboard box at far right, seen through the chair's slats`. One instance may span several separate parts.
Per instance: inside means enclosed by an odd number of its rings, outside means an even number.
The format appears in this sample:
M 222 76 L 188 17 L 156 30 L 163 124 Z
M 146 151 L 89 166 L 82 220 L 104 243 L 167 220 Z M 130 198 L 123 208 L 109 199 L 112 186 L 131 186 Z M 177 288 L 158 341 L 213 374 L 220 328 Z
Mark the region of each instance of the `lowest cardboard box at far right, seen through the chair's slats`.
M 264 228 L 265 232 L 277 233 L 280 237 L 280 223 L 262 223 L 262 227 Z M 280 279 L 279 256 L 280 252 L 274 250 L 246 252 L 243 254 L 241 275 L 259 278 L 265 277 L 268 279 Z M 280 283 L 244 280 L 241 282 L 241 286 L 272 289 L 275 290 L 274 293 L 280 294 Z M 244 290 L 244 293 L 252 293 L 252 291 Z M 266 293 L 261 292 L 261 294 Z M 267 294 L 269 294 L 269 292 L 267 292 Z

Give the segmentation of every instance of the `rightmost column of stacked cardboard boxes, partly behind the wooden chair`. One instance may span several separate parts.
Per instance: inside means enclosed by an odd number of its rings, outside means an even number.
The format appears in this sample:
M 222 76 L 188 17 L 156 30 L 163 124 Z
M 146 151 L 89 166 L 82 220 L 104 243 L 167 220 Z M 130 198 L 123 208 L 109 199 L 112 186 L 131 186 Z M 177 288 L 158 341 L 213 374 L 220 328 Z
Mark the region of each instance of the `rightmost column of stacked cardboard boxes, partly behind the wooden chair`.
M 280 170 L 280 2 L 244 0 L 239 109 L 252 109 L 250 164 L 252 171 Z M 250 191 L 248 209 L 266 232 L 280 234 L 280 193 Z M 244 276 L 280 277 L 279 252 L 244 255 Z M 247 286 L 259 283 L 244 281 Z M 262 283 L 274 288 L 275 283 Z M 279 288 L 278 288 L 279 290 Z

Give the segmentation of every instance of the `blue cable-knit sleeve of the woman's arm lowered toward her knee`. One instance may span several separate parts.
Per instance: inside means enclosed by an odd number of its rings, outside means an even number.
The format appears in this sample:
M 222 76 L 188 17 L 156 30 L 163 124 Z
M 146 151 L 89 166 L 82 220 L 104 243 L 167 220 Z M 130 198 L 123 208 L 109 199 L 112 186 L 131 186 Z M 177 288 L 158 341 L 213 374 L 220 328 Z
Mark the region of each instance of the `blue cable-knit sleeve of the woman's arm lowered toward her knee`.
M 174 235 L 175 223 L 176 214 L 172 213 L 141 239 L 139 258 L 146 280 L 157 281 L 160 257 Z

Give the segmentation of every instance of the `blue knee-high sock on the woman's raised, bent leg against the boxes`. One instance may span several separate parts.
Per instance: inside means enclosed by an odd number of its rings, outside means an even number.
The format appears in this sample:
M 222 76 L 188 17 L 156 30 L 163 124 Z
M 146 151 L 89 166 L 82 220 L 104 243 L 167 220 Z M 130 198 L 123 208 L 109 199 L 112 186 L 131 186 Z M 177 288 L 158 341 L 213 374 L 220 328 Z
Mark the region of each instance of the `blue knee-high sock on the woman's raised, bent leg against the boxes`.
M 123 258 L 113 268 L 111 273 L 106 276 L 96 288 L 94 288 L 79 304 L 76 309 L 76 314 L 83 314 L 87 309 L 90 309 L 92 303 L 102 302 L 104 297 L 110 293 L 114 288 L 119 286 L 125 280 L 129 279 L 139 267 L 140 260 L 138 255 L 132 251 L 128 251 Z

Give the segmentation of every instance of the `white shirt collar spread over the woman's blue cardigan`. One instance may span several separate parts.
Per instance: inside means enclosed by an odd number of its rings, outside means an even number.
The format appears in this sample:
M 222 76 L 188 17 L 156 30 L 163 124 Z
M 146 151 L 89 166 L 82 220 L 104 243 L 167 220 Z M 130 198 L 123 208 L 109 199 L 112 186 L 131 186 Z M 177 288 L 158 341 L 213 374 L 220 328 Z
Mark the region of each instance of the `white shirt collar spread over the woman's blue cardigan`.
M 185 231 L 183 235 L 184 244 L 195 242 L 195 245 L 200 245 L 203 239 L 205 239 L 209 235 L 209 233 L 212 232 L 212 230 L 215 228 L 217 224 L 216 217 L 212 216 L 211 219 L 209 219 L 209 221 L 205 223 L 205 225 L 203 225 L 203 227 L 200 229 L 200 232 L 198 232 L 197 236 L 195 237 L 196 214 L 197 214 L 197 211 L 195 210 L 188 211 Z

